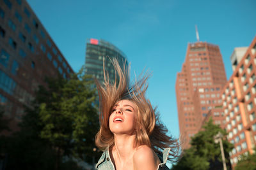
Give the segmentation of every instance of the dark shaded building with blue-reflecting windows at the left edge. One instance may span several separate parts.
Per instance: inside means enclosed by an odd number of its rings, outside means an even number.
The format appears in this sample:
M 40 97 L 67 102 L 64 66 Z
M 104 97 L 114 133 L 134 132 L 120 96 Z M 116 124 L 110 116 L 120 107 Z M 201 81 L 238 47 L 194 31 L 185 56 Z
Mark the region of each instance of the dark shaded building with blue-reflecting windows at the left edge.
M 46 76 L 68 78 L 72 68 L 52 41 L 29 4 L 23 0 L 0 1 L 0 103 L 11 127 L 30 106 Z

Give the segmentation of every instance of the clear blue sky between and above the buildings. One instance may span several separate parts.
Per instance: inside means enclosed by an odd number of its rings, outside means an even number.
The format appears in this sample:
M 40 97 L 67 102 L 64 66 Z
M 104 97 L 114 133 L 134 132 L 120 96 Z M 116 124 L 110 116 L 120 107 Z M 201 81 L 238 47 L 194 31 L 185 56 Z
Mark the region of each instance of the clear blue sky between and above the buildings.
M 256 35 L 256 1 L 180 0 L 28 0 L 74 71 L 85 62 L 86 39 L 117 46 L 137 75 L 152 72 L 148 98 L 158 106 L 161 120 L 176 138 L 179 121 L 175 97 L 176 75 L 181 71 L 188 43 L 219 45 L 227 78 L 230 55 L 248 46 Z

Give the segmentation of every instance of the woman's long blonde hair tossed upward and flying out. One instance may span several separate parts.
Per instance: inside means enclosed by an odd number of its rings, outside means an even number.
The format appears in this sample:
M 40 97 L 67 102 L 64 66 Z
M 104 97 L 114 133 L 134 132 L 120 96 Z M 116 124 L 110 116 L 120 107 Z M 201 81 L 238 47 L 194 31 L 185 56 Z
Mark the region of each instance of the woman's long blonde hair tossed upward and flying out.
M 156 108 L 153 108 L 150 101 L 145 97 L 148 88 L 148 77 L 140 76 L 138 81 L 132 85 L 129 83 L 130 66 L 121 69 L 116 59 L 111 60 L 115 67 L 115 81 L 110 82 L 108 73 L 104 69 L 104 82 L 102 85 L 96 80 L 100 101 L 100 130 L 95 136 L 95 144 L 101 149 L 114 145 L 114 135 L 109 129 L 109 116 L 113 106 L 122 99 L 128 99 L 138 106 L 138 114 L 136 115 L 136 138 L 135 146 L 147 145 L 154 152 L 161 153 L 164 148 L 171 148 L 169 160 L 175 162 L 179 154 L 179 144 L 177 139 L 168 136 L 168 130 L 159 121 Z

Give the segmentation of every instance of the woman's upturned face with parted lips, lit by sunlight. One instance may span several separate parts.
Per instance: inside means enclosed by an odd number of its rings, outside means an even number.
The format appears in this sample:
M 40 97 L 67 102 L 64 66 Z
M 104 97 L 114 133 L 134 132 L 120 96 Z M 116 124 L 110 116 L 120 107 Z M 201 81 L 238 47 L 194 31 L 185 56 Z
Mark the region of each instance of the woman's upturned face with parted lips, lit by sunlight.
M 109 129 L 113 134 L 134 134 L 136 128 L 136 104 L 129 100 L 118 101 L 109 117 Z

